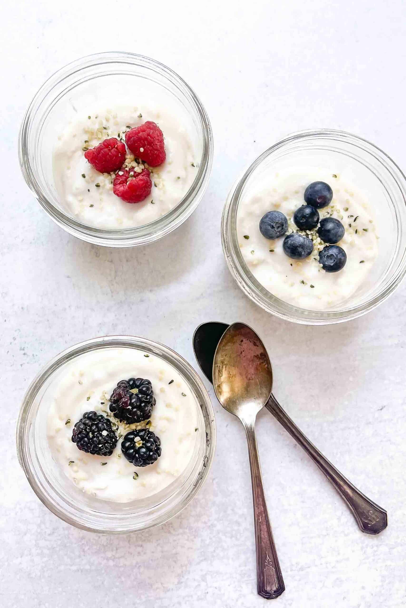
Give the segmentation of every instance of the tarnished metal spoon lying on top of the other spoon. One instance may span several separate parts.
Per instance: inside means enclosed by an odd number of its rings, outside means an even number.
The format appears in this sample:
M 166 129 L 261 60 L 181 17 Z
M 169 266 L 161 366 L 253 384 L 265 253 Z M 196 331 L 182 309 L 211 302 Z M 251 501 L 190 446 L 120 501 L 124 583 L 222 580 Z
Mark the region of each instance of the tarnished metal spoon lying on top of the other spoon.
M 255 437 L 257 413 L 272 390 L 272 368 L 264 345 L 250 327 L 234 323 L 226 329 L 214 354 L 212 377 L 217 399 L 240 419 L 247 435 L 253 485 L 257 592 L 263 598 L 277 598 L 285 586 L 273 542 Z

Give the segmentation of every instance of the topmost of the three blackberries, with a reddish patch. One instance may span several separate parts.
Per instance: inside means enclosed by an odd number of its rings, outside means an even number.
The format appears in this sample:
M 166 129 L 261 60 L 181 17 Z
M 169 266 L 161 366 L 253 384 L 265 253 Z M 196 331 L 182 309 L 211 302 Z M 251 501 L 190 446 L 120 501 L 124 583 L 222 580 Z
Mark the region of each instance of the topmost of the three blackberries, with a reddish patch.
M 110 412 L 121 422 L 134 424 L 148 420 L 155 403 L 151 382 L 144 378 L 130 378 L 117 382 L 110 397 Z

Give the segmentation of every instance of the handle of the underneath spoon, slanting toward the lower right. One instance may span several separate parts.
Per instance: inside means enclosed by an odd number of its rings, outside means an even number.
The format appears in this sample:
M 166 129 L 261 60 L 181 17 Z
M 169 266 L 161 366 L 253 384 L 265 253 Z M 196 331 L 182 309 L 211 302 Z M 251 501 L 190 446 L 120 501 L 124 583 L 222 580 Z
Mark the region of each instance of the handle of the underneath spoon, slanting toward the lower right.
M 385 530 L 388 525 L 388 516 L 385 509 L 369 500 L 344 475 L 341 475 L 340 471 L 318 451 L 317 447 L 313 446 L 312 442 L 307 439 L 306 435 L 289 418 L 273 395 L 270 396 L 265 407 L 282 424 L 284 429 L 292 435 L 299 446 L 303 447 L 304 451 L 312 458 L 320 471 L 326 475 L 329 482 L 332 483 L 338 494 L 349 506 L 360 530 L 366 534 L 379 534 L 382 530 Z

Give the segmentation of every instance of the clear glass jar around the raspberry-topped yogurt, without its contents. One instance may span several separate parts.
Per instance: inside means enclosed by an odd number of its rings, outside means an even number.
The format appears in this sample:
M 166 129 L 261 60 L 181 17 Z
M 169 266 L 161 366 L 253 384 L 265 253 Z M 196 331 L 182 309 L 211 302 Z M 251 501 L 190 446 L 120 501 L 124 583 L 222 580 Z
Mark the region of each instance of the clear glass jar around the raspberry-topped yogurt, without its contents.
M 58 200 L 52 171 L 55 133 L 84 100 L 110 100 L 111 91 L 137 98 L 139 90 L 177 106 L 198 154 L 198 170 L 189 191 L 169 213 L 131 229 L 103 230 L 80 223 Z M 62 121 L 62 122 L 61 122 Z M 67 232 L 89 243 L 131 247 L 164 237 L 196 209 L 208 185 L 213 158 L 211 126 L 194 91 L 169 67 L 142 55 L 103 53 L 89 55 L 56 72 L 37 92 L 19 133 L 19 162 L 23 177 L 48 215 Z

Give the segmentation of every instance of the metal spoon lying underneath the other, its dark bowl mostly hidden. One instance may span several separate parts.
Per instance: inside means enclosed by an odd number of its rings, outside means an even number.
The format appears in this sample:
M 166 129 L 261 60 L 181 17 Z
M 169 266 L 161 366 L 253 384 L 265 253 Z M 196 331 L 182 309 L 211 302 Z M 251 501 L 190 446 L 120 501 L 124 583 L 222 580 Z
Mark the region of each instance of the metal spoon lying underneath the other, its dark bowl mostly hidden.
M 195 357 L 201 370 L 210 382 L 213 381 L 212 362 L 215 349 L 227 328 L 228 325 L 226 323 L 202 323 L 195 330 L 193 336 Z M 369 500 L 344 475 L 341 475 L 340 471 L 318 451 L 317 447 L 313 446 L 306 435 L 289 418 L 272 394 L 265 407 L 275 416 L 276 420 L 282 424 L 293 439 L 297 441 L 299 446 L 303 447 L 304 451 L 310 456 L 320 471 L 326 475 L 341 498 L 345 500 L 360 530 L 366 534 L 379 534 L 382 530 L 385 530 L 388 525 L 388 516 L 385 509 Z

